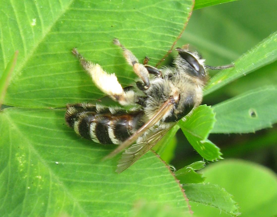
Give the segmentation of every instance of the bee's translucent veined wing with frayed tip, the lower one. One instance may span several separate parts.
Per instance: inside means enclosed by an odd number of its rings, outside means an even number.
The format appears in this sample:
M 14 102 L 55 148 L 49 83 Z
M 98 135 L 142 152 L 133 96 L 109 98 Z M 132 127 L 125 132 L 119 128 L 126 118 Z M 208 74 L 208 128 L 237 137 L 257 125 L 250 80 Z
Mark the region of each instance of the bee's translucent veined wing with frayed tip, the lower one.
M 126 149 L 118 162 L 116 172 L 120 173 L 134 164 L 134 162 L 136 162 L 143 154 L 149 151 L 149 149 L 151 149 L 174 125 L 175 123 L 166 129 L 155 129 L 147 134 L 143 142 L 133 144 L 130 148 Z

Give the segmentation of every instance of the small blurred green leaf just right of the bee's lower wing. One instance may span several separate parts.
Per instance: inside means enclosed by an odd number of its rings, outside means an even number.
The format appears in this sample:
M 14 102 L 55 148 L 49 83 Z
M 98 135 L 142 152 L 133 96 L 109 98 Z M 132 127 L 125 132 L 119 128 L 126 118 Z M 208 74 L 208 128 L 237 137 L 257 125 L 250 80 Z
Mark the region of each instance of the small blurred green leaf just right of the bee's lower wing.
M 169 164 L 174 157 L 174 151 L 177 145 L 175 134 L 179 129 L 180 127 L 178 125 L 173 126 L 173 128 L 160 139 L 154 148 L 152 148 L 167 164 Z

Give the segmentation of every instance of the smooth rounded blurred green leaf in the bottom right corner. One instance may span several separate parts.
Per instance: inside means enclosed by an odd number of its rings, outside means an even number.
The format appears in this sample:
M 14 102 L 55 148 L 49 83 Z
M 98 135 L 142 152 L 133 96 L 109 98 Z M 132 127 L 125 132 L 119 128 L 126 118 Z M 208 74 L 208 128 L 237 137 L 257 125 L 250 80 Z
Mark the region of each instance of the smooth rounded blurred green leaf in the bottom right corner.
M 203 170 L 205 182 L 224 186 L 240 206 L 240 217 L 271 217 L 277 213 L 277 175 L 266 167 L 241 160 L 224 160 Z M 186 191 L 186 194 L 189 194 Z M 189 202 L 195 216 L 227 217 L 216 208 Z

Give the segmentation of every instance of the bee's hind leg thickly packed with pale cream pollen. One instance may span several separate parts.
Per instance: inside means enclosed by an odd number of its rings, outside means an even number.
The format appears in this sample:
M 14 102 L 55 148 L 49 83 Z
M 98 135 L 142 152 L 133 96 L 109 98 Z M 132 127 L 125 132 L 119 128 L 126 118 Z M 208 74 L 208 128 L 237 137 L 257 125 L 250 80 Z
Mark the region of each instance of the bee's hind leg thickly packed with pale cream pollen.
M 109 97 L 121 105 L 131 105 L 137 101 L 135 92 L 130 90 L 124 91 L 114 73 L 108 74 L 99 64 L 87 61 L 79 54 L 76 48 L 73 48 L 72 53 L 79 59 L 83 68 L 90 74 L 96 87 L 103 93 L 109 95 Z

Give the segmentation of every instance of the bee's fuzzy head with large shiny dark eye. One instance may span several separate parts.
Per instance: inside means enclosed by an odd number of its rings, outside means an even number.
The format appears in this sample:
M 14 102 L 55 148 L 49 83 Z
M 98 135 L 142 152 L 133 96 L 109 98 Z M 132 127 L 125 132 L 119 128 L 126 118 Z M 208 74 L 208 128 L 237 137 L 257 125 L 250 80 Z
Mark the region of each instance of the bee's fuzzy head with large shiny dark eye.
M 176 58 L 176 66 L 193 77 L 205 80 L 204 60 L 197 53 L 181 48 L 176 48 L 176 50 L 179 53 Z

